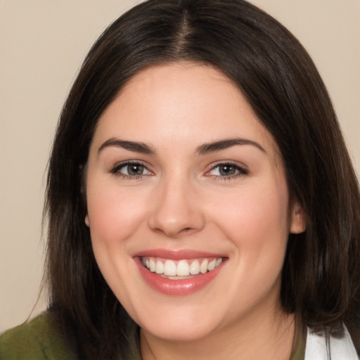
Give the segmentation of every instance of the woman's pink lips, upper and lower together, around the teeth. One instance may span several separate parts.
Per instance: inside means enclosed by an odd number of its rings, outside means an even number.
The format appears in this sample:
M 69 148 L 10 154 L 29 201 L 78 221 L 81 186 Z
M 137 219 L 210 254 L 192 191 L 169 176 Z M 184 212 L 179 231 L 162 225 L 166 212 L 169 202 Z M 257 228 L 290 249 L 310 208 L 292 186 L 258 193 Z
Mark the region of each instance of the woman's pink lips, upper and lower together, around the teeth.
M 151 256 L 151 257 L 162 257 L 165 259 L 194 259 L 198 257 L 221 257 L 214 254 L 205 254 L 204 252 L 168 252 L 167 250 L 156 251 L 151 250 L 150 252 L 143 252 L 142 255 L 136 255 L 134 260 L 136 265 L 139 268 L 140 274 L 143 279 L 150 285 L 153 290 L 158 291 L 159 293 L 165 295 L 175 295 L 175 296 L 184 296 L 195 293 L 196 291 L 204 288 L 208 285 L 214 278 L 219 274 L 223 268 L 226 259 L 217 266 L 212 271 L 207 272 L 206 274 L 195 275 L 186 279 L 181 280 L 171 280 L 169 278 L 162 278 L 158 274 L 152 273 L 141 263 L 141 258 L 139 256 Z

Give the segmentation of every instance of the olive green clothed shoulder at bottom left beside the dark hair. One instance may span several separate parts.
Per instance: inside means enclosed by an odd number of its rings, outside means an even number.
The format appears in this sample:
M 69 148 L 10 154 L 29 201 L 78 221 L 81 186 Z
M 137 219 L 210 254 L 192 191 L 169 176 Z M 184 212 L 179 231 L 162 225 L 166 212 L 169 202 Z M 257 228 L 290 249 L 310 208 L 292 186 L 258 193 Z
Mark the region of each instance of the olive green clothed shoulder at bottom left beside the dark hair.
M 74 359 L 60 333 L 51 325 L 48 311 L 0 335 L 0 359 Z

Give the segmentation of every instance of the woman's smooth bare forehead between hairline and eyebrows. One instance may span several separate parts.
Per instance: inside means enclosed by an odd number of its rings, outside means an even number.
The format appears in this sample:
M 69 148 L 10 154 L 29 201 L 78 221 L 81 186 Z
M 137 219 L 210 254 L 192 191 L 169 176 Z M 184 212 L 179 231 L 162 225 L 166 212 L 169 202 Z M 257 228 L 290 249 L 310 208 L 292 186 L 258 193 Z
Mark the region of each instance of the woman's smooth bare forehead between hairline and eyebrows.
M 132 77 L 99 120 L 95 140 L 110 136 L 196 147 L 246 137 L 276 148 L 231 79 L 209 65 L 195 63 L 153 65 Z

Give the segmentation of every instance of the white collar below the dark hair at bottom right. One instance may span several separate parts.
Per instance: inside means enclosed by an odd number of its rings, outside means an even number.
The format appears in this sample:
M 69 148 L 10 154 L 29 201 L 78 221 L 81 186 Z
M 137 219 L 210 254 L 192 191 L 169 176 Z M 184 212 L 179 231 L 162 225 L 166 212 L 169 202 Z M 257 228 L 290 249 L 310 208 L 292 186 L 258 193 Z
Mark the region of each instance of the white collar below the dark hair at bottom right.
M 346 327 L 343 338 L 330 337 L 330 353 L 331 360 L 359 360 Z M 309 328 L 304 360 L 328 360 L 325 337 L 314 334 Z

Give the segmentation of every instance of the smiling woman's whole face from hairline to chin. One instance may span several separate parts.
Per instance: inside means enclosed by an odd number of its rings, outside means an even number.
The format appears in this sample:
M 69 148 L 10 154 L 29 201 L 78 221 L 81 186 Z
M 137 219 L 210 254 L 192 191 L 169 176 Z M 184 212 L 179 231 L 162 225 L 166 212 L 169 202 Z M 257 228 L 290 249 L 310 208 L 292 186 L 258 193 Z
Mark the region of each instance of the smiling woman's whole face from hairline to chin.
M 200 339 L 276 311 L 302 222 L 274 139 L 221 72 L 131 79 L 98 122 L 86 198 L 98 266 L 146 333 Z

